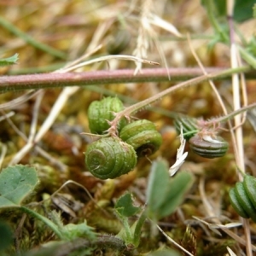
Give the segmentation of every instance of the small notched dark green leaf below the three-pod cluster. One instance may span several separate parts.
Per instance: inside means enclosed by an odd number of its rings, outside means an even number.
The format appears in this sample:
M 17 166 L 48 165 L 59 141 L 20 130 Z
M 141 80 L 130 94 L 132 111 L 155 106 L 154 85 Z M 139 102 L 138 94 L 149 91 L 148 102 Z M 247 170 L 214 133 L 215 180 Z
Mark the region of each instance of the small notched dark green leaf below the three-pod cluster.
M 131 194 L 122 195 L 115 204 L 115 210 L 120 216 L 131 217 L 140 211 L 140 207 L 133 206 Z

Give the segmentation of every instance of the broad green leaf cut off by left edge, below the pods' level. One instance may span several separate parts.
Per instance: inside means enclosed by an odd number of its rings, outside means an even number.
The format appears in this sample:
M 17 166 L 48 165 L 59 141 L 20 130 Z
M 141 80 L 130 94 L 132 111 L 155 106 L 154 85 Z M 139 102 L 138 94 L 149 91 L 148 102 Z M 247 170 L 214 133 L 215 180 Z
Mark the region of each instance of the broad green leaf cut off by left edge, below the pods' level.
M 9 166 L 0 173 L 0 208 L 19 207 L 38 183 L 37 172 L 28 166 Z

